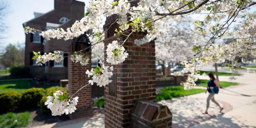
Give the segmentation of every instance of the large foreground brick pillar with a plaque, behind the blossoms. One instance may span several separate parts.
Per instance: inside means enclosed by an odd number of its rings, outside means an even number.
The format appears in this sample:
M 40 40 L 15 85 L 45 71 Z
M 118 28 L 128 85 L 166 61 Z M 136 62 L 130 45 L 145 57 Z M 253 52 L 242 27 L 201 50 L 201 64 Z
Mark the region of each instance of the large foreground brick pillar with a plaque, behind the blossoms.
M 105 30 L 114 20 L 114 16 L 107 17 Z M 113 38 L 115 28 L 118 26 L 113 24 L 105 33 L 105 49 L 109 43 L 116 40 Z M 131 112 L 135 103 L 138 100 L 155 101 L 154 42 L 140 47 L 134 45 L 134 39 L 143 36 L 142 33 L 133 34 L 123 45 L 129 56 L 122 64 L 114 66 L 113 81 L 105 86 L 105 128 L 131 127 Z M 117 41 L 124 40 L 125 38 L 120 38 Z

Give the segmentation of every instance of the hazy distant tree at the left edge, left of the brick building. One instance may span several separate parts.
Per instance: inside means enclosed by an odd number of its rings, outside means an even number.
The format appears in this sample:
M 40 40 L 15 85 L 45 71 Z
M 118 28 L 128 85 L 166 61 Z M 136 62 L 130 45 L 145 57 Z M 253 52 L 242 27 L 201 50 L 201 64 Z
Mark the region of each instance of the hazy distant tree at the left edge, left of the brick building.
M 0 63 L 6 67 L 15 67 L 23 64 L 24 55 L 22 54 L 23 50 L 17 49 L 17 47 L 13 44 L 9 44 L 6 47 L 5 52 L 0 55 Z

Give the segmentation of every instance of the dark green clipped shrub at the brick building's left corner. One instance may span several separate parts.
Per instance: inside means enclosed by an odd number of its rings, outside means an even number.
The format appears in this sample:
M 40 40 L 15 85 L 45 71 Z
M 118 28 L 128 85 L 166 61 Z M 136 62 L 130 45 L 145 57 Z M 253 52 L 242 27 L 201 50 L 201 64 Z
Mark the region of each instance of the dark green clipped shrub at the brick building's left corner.
M 29 67 L 17 66 L 11 67 L 11 76 L 15 77 L 29 77 Z

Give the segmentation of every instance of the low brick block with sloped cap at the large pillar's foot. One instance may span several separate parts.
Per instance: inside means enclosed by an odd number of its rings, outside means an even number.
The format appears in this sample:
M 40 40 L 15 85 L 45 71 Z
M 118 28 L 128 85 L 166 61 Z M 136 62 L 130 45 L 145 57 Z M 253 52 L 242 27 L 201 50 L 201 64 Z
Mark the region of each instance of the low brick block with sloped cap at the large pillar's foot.
M 172 113 L 167 106 L 139 101 L 131 116 L 132 128 L 172 128 Z

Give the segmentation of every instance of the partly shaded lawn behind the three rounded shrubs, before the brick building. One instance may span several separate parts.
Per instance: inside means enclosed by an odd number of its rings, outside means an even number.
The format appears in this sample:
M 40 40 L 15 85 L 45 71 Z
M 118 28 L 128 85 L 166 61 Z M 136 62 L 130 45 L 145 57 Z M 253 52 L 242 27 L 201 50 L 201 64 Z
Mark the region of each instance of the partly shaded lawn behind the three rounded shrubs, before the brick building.
M 49 88 L 52 87 L 53 85 L 39 85 L 36 87 L 41 87 L 41 88 Z M 19 93 L 22 93 L 24 90 L 31 88 L 32 86 L 30 85 L 29 80 L 16 80 L 16 81 L 0 81 L 0 92 L 3 91 L 16 91 Z

